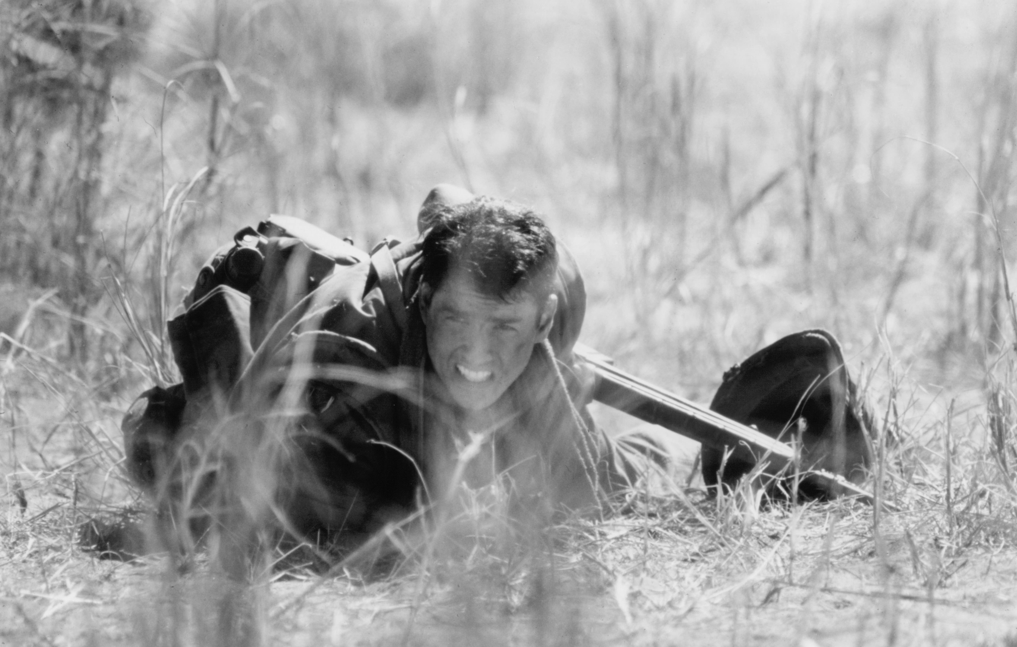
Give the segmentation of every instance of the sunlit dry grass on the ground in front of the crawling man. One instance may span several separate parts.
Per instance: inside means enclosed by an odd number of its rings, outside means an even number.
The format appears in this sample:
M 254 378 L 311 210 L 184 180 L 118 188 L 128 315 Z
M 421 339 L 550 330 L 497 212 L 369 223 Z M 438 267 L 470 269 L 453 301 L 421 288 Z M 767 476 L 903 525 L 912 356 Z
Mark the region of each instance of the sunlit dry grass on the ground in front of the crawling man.
M 882 495 L 902 512 L 877 516 L 846 499 L 760 508 L 750 487 L 707 499 L 697 487 L 656 483 L 605 521 L 534 528 L 507 518 L 496 491 L 462 490 L 462 505 L 436 526 L 392 529 L 363 558 L 322 575 L 308 554 L 276 551 L 267 558 L 286 566 L 240 584 L 204 552 L 183 571 L 165 555 L 123 564 L 82 553 L 82 520 L 127 512 L 104 504 L 125 492 L 110 470 L 118 458 L 112 431 L 93 420 L 111 412 L 76 401 L 58 414 L 51 394 L 71 378 L 41 357 L 22 358 L 16 370 L 38 377 L 38 388 L 8 392 L 16 415 L 53 418 L 19 429 L 26 432 L 11 451 L 25 462 L 65 453 L 40 436 L 69 423 L 61 435 L 80 454 L 8 475 L 8 490 L 26 504 L 8 509 L 0 535 L 0 608 L 16 644 L 1013 640 L 1017 451 L 994 431 L 1013 424 L 1012 394 L 998 386 L 989 417 L 948 405 L 945 417 L 900 424 L 898 439 L 879 446 Z M 900 379 L 891 390 L 888 426 L 908 416 L 911 389 Z M 673 491 L 661 495 L 665 485 Z M 375 548 L 400 556 L 387 569 L 367 568 Z

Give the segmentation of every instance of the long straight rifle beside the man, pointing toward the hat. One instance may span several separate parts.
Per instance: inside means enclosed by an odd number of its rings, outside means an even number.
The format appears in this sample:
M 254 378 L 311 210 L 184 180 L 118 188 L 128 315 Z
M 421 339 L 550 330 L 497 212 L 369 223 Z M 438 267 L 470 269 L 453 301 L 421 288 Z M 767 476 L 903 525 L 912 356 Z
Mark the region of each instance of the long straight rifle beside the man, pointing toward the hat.
M 777 469 L 794 469 L 794 449 L 762 431 L 724 417 L 703 405 L 685 400 L 659 387 L 617 368 L 611 359 L 588 346 L 577 344 L 577 358 L 586 363 L 596 376 L 593 399 L 645 422 L 680 433 L 710 447 L 730 451 L 736 459 L 759 464 L 769 461 Z M 875 505 L 876 497 L 840 474 L 825 470 L 810 470 L 830 491 L 841 491 Z M 883 507 L 895 507 L 883 502 Z

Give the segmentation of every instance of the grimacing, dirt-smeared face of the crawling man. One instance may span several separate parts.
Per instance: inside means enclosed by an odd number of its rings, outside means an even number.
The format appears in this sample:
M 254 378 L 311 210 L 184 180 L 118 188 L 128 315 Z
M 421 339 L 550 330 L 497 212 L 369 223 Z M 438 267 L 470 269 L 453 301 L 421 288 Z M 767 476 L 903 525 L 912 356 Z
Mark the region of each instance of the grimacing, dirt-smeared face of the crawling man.
M 534 345 L 547 339 L 557 306 L 553 294 L 539 301 L 529 290 L 507 302 L 483 294 L 459 269 L 425 293 L 427 351 L 456 404 L 486 409 L 523 373 Z

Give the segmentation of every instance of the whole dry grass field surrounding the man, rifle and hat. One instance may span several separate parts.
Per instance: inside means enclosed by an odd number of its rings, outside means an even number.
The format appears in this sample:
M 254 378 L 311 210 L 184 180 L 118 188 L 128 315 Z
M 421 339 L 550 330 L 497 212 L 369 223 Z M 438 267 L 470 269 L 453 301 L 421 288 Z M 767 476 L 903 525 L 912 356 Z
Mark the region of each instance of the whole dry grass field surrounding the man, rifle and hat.
M 29 4 L 0 47 L 67 49 L 0 64 L 0 644 L 1017 644 L 1010 5 L 179 0 L 118 32 L 131 3 L 55 3 L 53 36 Z M 83 552 L 84 520 L 149 507 L 119 419 L 174 379 L 163 318 L 203 257 L 273 211 L 408 235 L 440 181 L 545 211 L 584 341 L 693 399 L 834 332 L 900 512 L 708 501 L 689 444 L 607 520 L 463 490 L 324 575 Z

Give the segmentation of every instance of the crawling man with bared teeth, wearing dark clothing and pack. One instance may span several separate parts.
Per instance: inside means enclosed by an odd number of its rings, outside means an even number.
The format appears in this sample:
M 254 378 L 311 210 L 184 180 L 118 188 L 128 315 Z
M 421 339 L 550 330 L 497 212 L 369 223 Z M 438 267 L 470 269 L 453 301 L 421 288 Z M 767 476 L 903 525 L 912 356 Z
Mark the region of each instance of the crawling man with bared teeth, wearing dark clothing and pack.
M 128 470 L 168 514 L 261 490 L 290 534 L 360 540 L 461 483 L 601 511 L 659 452 L 593 424 L 583 279 L 531 210 L 438 187 L 420 235 L 370 255 L 285 225 L 217 252 L 169 325 L 183 385 L 125 418 Z

